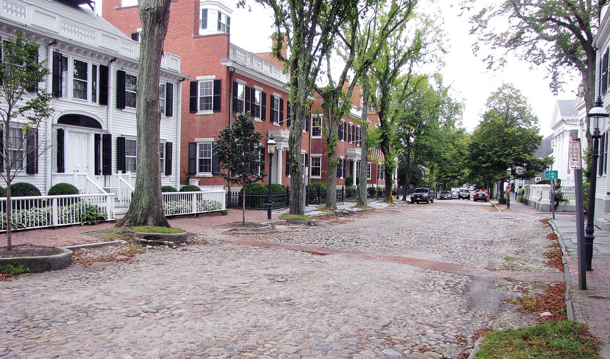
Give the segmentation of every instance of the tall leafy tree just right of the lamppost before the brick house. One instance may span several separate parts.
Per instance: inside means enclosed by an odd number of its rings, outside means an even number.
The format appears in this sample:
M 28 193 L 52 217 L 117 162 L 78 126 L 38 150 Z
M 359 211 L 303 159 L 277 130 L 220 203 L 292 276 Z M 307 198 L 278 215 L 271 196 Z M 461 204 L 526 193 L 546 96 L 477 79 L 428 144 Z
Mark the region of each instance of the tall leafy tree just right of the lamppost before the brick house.
M 301 147 L 303 122 L 309 115 L 309 97 L 326 54 L 343 24 L 358 16 L 359 0 L 254 0 L 273 10 L 276 35 L 271 54 L 290 73 L 290 126 L 287 161 L 290 167 L 290 214 L 304 214 Z M 363 0 L 371 1 L 371 0 Z M 244 5 L 246 0 L 240 0 Z M 288 58 L 282 49 L 290 50 Z

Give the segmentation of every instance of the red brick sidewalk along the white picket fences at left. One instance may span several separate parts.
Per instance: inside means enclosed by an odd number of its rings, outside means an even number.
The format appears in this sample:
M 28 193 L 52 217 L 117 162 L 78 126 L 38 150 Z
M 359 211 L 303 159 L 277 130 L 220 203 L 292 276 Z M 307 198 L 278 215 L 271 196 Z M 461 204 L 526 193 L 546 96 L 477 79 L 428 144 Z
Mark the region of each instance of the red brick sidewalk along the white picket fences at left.
M 228 214 L 222 216 L 220 213 L 200 214 L 199 217 L 180 217 L 169 219 L 171 227 L 182 228 L 190 233 L 218 233 L 223 228 L 216 228 L 232 222 L 242 221 L 242 211 L 239 209 L 228 209 Z M 277 214 L 271 216 L 272 220 L 278 219 Z M 246 222 L 267 222 L 267 211 L 247 211 Z M 70 226 L 60 228 L 43 228 L 40 230 L 15 231 L 12 233 L 12 244 L 40 244 L 40 245 L 73 245 L 99 242 L 99 238 L 83 234 L 89 231 L 104 230 L 113 227 L 115 223 L 100 223 L 92 226 Z M 6 234 L 0 234 L 0 245 L 6 244 Z

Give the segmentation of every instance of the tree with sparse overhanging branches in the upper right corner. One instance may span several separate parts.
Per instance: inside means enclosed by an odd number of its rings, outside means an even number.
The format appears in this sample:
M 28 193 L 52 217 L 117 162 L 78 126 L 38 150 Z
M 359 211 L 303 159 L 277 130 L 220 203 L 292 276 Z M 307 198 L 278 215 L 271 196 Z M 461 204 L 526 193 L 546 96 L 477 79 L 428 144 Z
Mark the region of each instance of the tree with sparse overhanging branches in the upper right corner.
M 474 9 L 474 1 L 465 0 L 463 7 Z M 550 87 L 555 93 L 561 88 L 566 70 L 578 71 L 589 112 L 595 101 L 594 37 L 601 9 L 607 3 L 607 0 L 487 2 L 472 16 L 470 32 L 478 34 L 479 43 L 512 51 L 536 66 L 547 65 Z M 508 27 L 497 27 L 498 20 L 508 21 Z M 475 53 L 479 49 L 479 45 L 475 45 Z M 504 53 L 489 55 L 485 60 L 490 68 L 506 63 Z

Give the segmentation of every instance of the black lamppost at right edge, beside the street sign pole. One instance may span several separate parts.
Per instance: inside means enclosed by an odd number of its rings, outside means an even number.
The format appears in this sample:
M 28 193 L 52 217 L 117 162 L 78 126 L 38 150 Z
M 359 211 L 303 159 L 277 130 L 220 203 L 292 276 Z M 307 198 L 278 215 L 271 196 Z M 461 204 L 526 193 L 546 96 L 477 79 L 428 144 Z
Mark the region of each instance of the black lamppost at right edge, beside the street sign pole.
M 593 270 L 593 223 L 595 220 L 595 187 L 597 187 L 597 159 L 600 142 L 600 128 L 604 126 L 604 121 L 608 117 L 608 111 L 603 107 L 601 97 L 598 96 L 592 109 L 589 110 L 589 131 L 593 139 L 593 150 L 591 151 L 591 178 L 589 186 L 589 209 L 587 210 L 587 225 L 584 228 L 584 258 L 586 259 L 587 270 Z

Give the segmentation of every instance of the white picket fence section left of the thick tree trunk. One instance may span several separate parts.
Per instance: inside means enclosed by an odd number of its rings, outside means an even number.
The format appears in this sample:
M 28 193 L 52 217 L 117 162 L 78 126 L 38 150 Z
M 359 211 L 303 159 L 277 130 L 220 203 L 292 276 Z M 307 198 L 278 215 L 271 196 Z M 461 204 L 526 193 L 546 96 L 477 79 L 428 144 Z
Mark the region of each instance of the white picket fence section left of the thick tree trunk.
M 13 230 L 81 224 L 86 220 L 83 216 L 85 211 L 97 213 L 98 220 L 114 219 L 112 193 L 13 197 L 11 204 Z M 7 208 L 6 197 L 0 198 L 2 232 L 7 230 Z

